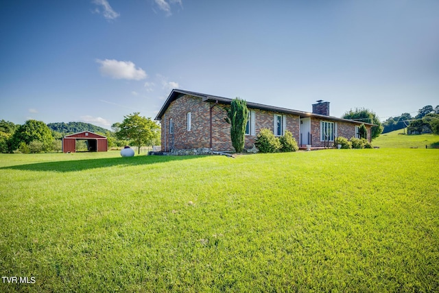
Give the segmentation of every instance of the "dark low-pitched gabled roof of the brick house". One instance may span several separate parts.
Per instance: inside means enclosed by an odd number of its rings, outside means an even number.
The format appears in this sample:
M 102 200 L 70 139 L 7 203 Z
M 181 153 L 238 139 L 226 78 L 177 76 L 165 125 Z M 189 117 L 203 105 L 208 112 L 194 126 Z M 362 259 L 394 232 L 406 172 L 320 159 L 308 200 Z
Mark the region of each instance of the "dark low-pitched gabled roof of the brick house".
M 195 93 L 193 91 L 184 91 L 184 90 L 180 90 L 180 89 L 173 89 L 171 91 L 171 93 L 169 94 L 169 96 L 167 97 L 165 104 L 163 104 L 161 110 L 158 111 L 158 114 L 157 114 L 156 118 L 154 118 L 154 119 L 161 120 L 162 116 L 165 114 L 167 107 L 169 107 L 169 104 L 171 104 L 171 102 L 175 101 L 176 99 L 178 99 L 182 95 L 192 95 L 194 97 L 201 97 L 203 102 L 215 102 L 218 104 L 230 104 L 230 102 L 232 102 L 232 100 L 233 100 L 233 99 L 230 99 L 228 97 L 219 97 L 217 95 L 206 95 L 204 93 Z M 351 119 L 343 119 L 343 118 L 338 118 L 338 117 L 333 117 L 333 116 L 314 114 L 314 113 L 309 113 L 309 112 L 305 112 L 305 111 L 292 110 L 292 109 L 281 108 L 281 107 L 276 107 L 276 106 L 269 106 L 269 105 L 264 105 L 264 104 L 248 102 L 248 101 L 246 101 L 246 102 L 247 102 L 247 107 L 250 109 L 268 110 L 268 111 L 277 112 L 277 113 L 298 115 L 300 118 L 313 117 L 313 118 L 325 119 L 325 120 L 330 120 L 330 121 L 340 121 L 340 122 L 348 122 L 348 123 L 355 123 L 355 124 L 365 124 L 367 126 L 375 126 L 375 124 L 364 123 L 361 121 L 355 121 L 355 120 L 351 120 Z

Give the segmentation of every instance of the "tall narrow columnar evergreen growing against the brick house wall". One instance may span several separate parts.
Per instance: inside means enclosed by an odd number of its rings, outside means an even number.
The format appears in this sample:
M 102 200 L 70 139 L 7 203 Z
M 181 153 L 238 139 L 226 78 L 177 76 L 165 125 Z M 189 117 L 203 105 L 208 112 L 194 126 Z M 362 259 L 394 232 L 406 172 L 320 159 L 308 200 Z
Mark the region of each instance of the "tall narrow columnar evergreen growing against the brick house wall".
M 244 150 L 246 138 L 246 124 L 248 120 L 247 102 L 236 97 L 230 103 L 230 108 L 226 109 L 226 122 L 230 124 L 230 139 L 236 152 Z

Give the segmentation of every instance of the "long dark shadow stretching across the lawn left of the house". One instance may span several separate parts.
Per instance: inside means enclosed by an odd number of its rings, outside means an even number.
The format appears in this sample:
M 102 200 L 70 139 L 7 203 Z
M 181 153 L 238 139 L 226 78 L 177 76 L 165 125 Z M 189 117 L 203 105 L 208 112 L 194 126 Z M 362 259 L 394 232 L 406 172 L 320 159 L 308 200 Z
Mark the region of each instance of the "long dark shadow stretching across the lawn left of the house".
M 75 172 L 86 169 L 97 169 L 114 166 L 150 165 L 166 163 L 170 161 L 182 161 L 196 159 L 200 156 L 132 156 L 105 159 L 86 159 L 73 161 L 55 161 L 44 163 L 29 163 L 25 165 L 14 165 L 0 167 L 0 169 L 25 170 L 25 171 L 53 171 L 53 172 Z

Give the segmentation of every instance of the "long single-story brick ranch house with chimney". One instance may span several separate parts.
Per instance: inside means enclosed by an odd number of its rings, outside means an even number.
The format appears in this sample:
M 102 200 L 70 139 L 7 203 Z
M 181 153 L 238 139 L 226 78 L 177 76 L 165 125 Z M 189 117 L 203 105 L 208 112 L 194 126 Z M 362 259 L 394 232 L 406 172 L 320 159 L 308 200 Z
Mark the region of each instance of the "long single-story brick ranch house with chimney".
M 234 150 L 230 124 L 225 121 L 232 99 L 174 89 L 156 116 L 161 121 L 163 152 L 210 148 Z M 292 132 L 300 147 L 333 145 L 335 137 L 358 137 L 361 122 L 329 116 L 329 102 L 313 104 L 313 113 L 247 102 L 250 119 L 246 126 L 245 148 L 252 148 L 259 130 L 268 128 L 281 136 Z M 368 130 L 373 124 L 364 124 Z

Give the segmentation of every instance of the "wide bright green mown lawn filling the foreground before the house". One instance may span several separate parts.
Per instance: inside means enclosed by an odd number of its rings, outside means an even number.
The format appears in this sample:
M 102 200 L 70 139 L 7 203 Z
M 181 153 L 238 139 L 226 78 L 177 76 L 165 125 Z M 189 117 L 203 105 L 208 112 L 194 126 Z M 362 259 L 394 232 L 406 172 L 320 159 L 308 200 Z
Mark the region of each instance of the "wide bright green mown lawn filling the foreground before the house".
M 439 152 L 0 154 L 0 292 L 438 292 Z

